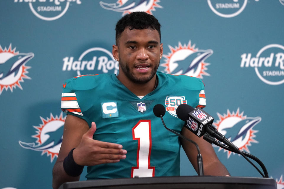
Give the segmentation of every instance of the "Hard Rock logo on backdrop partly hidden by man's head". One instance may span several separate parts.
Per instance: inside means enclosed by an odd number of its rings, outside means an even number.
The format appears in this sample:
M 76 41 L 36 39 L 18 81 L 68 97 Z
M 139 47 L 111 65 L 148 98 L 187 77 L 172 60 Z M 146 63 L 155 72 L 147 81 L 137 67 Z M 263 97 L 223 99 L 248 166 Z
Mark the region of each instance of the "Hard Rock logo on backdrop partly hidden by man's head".
M 78 60 L 73 56 L 63 58 L 62 71 L 76 71 L 77 75 L 118 74 L 118 61 L 104 48 L 94 47 L 85 50 Z

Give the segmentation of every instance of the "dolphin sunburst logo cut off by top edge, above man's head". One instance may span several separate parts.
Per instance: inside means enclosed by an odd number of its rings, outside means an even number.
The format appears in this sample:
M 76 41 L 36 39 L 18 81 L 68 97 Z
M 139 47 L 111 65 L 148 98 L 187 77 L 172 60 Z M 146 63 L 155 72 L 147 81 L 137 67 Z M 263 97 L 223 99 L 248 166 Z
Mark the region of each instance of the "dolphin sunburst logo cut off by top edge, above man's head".
M 100 5 L 107 10 L 122 12 L 122 15 L 137 11 L 152 14 L 152 11 L 156 10 L 155 7 L 163 8 L 158 4 L 159 2 L 159 0 L 118 0 L 116 3 L 100 1 Z

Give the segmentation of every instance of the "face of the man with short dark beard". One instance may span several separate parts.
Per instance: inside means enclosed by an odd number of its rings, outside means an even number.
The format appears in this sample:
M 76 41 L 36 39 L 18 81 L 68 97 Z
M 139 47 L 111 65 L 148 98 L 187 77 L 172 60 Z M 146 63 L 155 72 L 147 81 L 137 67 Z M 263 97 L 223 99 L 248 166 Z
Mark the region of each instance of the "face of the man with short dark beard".
M 157 30 L 125 28 L 112 52 L 119 60 L 118 79 L 146 83 L 156 75 L 163 44 L 160 44 Z

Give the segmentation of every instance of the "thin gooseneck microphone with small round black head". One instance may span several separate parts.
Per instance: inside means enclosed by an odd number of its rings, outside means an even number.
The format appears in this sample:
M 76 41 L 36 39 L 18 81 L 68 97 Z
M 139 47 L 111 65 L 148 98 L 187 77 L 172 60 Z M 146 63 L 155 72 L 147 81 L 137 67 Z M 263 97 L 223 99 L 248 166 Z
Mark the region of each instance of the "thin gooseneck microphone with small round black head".
M 203 160 L 202 160 L 202 156 L 201 156 L 201 154 L 200 154 L 199 146 L 196 144 L 196 142 L 194 142 L 194 141 L 192 141 L 192 140 L 186 138 L 185 136 L 181 135 L 180 133 L 177 133 L 177 132 L 173 131 L 173 130 L 170 129 L 170 128 L 167 128 L 166 124 L 164 123 L 164 119 L 163 119 L 163 116 L 164 116 L 165 113 L 166 113 L 166 109 L 165 109 L 165 107 L 164 107 L 163 105 L 161 105 L 161 104 L 156 104 L 156 105 L 154 106 L 154 108 L 153 108 L 153 113 L 154 113 L 154 115 L 156 115 L 158 118 L 161 118 L 164 127 L 165 127 L 168 131 L 170 131 L 170 132 L 172 132 L 172 133 L 178 135 L 180 138 L 183 138 L 183 139 L 185 139 L 185 140 L 187 140 L 187 141 L 190 141 L 191 143 L 193 143 L 193 144 L 196 146 L 196 149 L 197 149 L 197 152 L 198 152 L 198 154 L 197 154 L 198 175 L 199 175 L 199 176 L 202 176 L 202 175 L 203 175 Z

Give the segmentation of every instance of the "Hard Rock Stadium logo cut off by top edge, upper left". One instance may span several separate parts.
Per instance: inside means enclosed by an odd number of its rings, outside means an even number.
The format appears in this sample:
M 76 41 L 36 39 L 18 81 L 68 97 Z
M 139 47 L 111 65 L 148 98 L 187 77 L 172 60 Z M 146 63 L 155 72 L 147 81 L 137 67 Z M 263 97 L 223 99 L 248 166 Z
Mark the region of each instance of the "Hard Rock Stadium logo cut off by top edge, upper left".
M 52 21 L 62 17 L 72 3 L 81 4 L 81 0 L 14 0 L 15 3 L 28 3 L 32 13 L 39 19 Z

